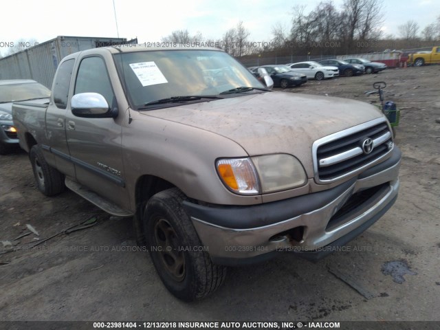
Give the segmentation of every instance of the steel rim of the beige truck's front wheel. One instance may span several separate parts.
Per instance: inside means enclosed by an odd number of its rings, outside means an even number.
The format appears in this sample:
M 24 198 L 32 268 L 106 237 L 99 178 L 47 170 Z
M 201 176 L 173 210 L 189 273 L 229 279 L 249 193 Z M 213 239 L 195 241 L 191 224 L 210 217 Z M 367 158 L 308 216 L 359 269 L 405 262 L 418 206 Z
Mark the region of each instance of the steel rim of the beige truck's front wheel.
M 154 240 L 160 263 L 166 272 L 177 282 L 185 278 L 185 254 L 179 245 L 174 228 L 166 219 L 158 218 L 154 225 Z

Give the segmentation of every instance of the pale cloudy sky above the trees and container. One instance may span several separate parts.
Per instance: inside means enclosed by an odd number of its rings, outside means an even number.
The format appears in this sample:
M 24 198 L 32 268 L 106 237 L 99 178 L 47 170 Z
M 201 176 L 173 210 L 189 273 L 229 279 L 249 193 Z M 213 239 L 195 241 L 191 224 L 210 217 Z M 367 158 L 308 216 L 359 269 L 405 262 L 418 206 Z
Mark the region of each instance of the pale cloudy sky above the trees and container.
M 115 23 L 115 12 L 118 29 Z M 307 5 L 306 12 L 320 0 L 15 0 L 2 1 L 0 53 L 18 39 L 39 43 L 56 36 L 100 36 L 138 39 L 139 43 L 161 41 L 174 30 L 200 32 L 205 38 L 220 39 L 243 21 L 250 40 L 272 39 L 276 23 L 290 28 L 294 5 Z M 343 0 L 333 0 L 342 8 Z M 399 35 L 398 26 L 417 21 L 422 30 L 440 15 L 440 0 L 383 0 L 386 34 Z

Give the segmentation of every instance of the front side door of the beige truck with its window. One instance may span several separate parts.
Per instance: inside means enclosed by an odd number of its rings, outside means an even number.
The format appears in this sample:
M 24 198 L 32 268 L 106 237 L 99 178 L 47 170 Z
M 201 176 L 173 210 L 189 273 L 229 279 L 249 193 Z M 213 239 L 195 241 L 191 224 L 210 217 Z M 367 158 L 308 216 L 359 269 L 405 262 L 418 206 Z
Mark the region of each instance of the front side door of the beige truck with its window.
M 99 93 L 111 108 L 118 107 L 104 58 L 83 58 L 74 84 L 73 95 Z M 74 160 L 76 180 L 118 205 L 126 204 L 129 198 L 124 182 L 121 131 L 118 118 L 82 118 L 70 108 L 67 111 L 67 144 Z

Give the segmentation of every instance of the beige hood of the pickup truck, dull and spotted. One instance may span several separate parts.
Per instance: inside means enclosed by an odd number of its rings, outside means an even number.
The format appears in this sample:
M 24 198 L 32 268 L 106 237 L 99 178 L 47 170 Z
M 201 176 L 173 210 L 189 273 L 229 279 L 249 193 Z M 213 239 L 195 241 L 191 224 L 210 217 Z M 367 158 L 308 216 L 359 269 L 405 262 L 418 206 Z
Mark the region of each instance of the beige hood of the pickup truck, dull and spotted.
M 223 135 L 248 155 L 289 153 L 305 166 L 320 137 L 382 117 L 365 102 L 276 91 L 142 113 Z

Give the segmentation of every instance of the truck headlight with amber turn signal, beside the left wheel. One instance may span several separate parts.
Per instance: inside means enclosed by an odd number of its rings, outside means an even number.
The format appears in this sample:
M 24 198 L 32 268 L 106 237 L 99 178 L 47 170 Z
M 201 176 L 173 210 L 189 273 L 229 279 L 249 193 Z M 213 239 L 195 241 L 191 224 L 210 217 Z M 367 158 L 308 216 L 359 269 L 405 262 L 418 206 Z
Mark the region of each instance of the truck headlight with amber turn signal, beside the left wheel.
M 303 186 L 305 170 L 292 155 L 219 159 L 217 171 L 225 186 L 239 194 L 265 194 Z

